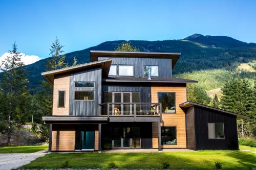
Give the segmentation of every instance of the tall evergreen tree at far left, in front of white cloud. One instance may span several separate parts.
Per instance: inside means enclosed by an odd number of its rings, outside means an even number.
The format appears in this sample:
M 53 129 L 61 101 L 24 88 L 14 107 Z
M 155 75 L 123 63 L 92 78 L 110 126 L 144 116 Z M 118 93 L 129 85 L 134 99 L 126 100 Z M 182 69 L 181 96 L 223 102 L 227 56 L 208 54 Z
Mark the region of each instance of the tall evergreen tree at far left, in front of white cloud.
M 24 124 L 29 116 L 29 82 L 23 66 L 24 62 L 21 61 L 21 55 L 17 52 L 17 45 L 14 42 L 9 56 L 1 64 L 1 131 L 7 132 L 7 144 L 11 142 L 12 131 Z

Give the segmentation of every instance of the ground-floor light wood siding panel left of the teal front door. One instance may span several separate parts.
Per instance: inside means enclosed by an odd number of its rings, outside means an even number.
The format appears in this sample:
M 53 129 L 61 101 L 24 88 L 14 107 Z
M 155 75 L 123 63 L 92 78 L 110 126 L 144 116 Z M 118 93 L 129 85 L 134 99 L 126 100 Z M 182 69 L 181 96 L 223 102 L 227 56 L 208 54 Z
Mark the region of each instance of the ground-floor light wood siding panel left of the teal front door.
M 53 126 L 52 151 L 74 151 L 75 129 Z

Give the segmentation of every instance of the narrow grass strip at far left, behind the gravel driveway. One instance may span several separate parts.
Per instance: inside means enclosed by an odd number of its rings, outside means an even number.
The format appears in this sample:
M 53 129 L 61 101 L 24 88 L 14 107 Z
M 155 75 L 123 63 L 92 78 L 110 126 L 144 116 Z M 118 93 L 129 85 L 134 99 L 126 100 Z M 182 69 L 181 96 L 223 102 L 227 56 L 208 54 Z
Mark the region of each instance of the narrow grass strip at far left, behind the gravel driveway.
M 0 147 L 0 154 L 4 153 L 33 153 L 48 149 L 48 145 Z

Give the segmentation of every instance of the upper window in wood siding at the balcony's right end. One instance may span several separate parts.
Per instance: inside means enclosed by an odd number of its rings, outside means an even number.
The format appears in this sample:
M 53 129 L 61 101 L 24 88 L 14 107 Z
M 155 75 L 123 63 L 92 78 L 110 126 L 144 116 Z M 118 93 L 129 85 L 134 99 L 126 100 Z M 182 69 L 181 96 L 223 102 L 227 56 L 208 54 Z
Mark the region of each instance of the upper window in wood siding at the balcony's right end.
M 162 103 L 162 112 L 175 113 L 175 92 L 158 92 L 158 102 Z

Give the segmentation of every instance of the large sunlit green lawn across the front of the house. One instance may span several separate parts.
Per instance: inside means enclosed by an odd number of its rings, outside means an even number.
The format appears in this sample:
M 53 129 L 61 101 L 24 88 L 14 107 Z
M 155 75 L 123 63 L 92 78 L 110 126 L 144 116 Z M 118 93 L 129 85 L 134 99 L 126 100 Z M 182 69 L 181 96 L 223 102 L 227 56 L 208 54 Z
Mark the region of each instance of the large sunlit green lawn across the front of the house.
M 119 169 L 162 168 L 168 163 L 171 169 L 250 169 L 256 167 L 256 154 L 243 151 L 198 151 L 174 153 L 69 153 L 47 154 L 22 168 L 60 168 L 69 161 L 69 168 L 108 169 L 111 162 Z

